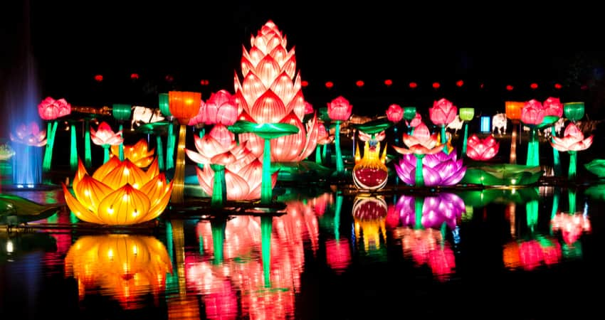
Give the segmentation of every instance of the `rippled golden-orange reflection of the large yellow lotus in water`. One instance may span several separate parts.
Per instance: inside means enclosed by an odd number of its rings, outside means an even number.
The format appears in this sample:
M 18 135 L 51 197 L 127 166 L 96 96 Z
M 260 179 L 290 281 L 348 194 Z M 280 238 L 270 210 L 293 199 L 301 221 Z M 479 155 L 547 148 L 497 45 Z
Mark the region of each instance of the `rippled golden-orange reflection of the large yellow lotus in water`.
M 151 236 L 94 235 L 76 241 L 65 256 L 65 275 L 78 281 L 85 294 L 110 294 L 125 309 L 145 305 L 147 294 L 166 288 L 172 263 L 166 247 Z

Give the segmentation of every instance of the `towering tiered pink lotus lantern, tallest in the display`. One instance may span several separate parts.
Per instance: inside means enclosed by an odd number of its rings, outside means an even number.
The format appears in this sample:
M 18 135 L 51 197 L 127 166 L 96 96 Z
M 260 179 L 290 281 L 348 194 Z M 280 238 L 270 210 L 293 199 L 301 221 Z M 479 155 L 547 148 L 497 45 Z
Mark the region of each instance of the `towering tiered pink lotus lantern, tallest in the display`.
M 268 21 L 251 37 L 251 49 L 243 50 L 241 73 L 235 78 L 239 119 L 256 124 L 284 123 L 298 127 L 295 134 L 270 141 L 270 161 L 299 162 L 307 158 L 317 144 L 317 117 L 305 128 L 305 99 L 300 74 L 296 73 L 294 49 L 286 50 L 286 39 L 273 21 Z M 253 133 L 240 134 L 253 154 L 263 154 L 265 140 Z

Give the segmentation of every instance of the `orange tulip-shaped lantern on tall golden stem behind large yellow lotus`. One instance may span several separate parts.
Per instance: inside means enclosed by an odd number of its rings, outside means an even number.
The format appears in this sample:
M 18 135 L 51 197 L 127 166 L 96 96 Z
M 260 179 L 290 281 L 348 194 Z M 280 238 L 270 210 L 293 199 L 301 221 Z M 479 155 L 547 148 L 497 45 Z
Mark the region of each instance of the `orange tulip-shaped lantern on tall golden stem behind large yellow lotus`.
M 174 166 L 174 190 L 171 201 L 184 202 L 185 188 L 185 138 L 186 126 L 189 120 L 195 117 L 201 105 L 200 92 L 169 91 L 168 107 L 170 114 L 179 120 L 179 145 L 177 147 L 177 162 Z

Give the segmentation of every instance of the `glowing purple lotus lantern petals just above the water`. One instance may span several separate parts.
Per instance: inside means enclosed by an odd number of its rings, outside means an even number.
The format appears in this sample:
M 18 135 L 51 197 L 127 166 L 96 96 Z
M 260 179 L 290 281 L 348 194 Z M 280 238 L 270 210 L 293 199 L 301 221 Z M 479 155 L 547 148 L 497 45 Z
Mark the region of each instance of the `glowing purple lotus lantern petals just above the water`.
M 411 186 L 416 183 L 416 163 L 414 154 L 403 154 L 395 164 L 397 176 Z M 456 152 L 425 154 L 422 159 L 424 186 L 453 186 L 462 180 L 465 173 L 466 166 L 462 159 L 457 159 Z

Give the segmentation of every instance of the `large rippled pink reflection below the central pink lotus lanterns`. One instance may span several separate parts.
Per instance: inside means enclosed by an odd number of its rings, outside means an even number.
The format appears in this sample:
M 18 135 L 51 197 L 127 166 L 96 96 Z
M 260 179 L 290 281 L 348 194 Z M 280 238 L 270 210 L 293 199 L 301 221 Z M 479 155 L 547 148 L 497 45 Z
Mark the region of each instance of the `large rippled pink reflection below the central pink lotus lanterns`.
M 273 218 L 270 261 L 263 261 L 268 256 L 262 252 L 261 218 L 238 215 L 228 219 L 222 239 L 214 238 L 211 221 L 201 220 L 196 228 L 200 255 L 188 255 L 185 264 L 187 288 L 203 295 L 206 317 L 231 317 L 238 311 L 246 319 L 293 316 L 305 245 L 311 243 L 317 249 L 319 226 L 315 210 L 321 203 L 327 203 L 324 195 L 305 203 L 286 201 L 286 214 Z M 223 243 L 217 245 L 217 240 Z M 223 259 L 219 262 L 216 250 L 221 249 Z M 266 283 L 263 263 L 270 263 L 270 285 Z

